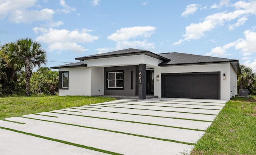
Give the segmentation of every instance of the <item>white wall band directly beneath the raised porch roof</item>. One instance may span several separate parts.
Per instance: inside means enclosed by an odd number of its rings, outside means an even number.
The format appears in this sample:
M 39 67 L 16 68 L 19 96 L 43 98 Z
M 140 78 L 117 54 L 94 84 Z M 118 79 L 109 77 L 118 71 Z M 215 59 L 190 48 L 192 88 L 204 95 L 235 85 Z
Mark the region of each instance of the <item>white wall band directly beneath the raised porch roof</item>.
M 138 64 L 146 64 L 147 66 L 158 66 L 160 62 L 162 61 L 156 58 L 152 58 L 150 56 L 146 56 L 144 54 L 84 60 L 84 64 L 87 64 L 87 67 L 132 66 Z

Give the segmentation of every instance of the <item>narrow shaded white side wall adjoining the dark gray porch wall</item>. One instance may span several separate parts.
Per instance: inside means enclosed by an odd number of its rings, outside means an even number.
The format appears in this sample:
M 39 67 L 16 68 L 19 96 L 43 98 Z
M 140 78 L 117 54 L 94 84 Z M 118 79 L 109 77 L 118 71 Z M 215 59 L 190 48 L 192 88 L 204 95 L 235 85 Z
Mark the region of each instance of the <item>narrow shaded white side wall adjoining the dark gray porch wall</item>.
M 104 68 L 91 68 L 91 95 L 104 95 Z

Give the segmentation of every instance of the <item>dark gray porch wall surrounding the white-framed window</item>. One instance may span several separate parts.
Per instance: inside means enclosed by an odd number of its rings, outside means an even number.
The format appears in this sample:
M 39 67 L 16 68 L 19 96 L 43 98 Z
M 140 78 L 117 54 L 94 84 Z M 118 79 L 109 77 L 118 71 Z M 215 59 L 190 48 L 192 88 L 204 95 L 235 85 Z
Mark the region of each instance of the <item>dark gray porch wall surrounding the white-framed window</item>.
M 107 71 L 124 70 L 124 90 L 106 89 Z M 131 72 L 133 72 L 133 85 L 131 89 Z M 104 68 L 104 95 L 135 95 L 136 93 L 136 66 L 118 66 Z

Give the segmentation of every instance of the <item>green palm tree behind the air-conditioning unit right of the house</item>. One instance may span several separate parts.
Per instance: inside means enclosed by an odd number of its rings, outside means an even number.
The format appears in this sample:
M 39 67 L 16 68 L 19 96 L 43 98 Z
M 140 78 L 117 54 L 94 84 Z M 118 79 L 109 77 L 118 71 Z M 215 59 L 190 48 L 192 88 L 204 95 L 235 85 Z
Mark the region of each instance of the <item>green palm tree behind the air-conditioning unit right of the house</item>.
M 253 72 L 252 68 L 240 65 L 241 75 L 238 75 L 238 89 L 248 89 L 249 93 L 252 94 L 254 90 L 254 83 L 256 79 L 256 74 Z

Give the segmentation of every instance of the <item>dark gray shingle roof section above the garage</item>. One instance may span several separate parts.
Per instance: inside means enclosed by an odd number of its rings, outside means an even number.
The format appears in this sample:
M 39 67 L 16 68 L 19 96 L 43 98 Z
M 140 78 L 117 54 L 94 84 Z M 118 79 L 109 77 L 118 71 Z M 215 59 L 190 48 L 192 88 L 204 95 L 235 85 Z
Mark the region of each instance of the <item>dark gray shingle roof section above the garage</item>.
M 239 60 L 227 59 L 227 58 L 218 58 L 212 56 L 200 56 L 194 54 L 185 54 L 185 53 L 163 53 L 159 54 L 165 58 L 170 59 L 170 61 L 163 61 L 158 64 L 158 66 L 183 66 L 183 65 L 192 65 L 192 64 L 219 64 L 219 63 L 230 63 L 237 74 L 241 74 L 239 67 Z

